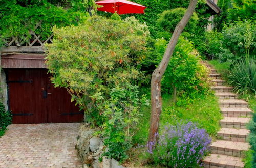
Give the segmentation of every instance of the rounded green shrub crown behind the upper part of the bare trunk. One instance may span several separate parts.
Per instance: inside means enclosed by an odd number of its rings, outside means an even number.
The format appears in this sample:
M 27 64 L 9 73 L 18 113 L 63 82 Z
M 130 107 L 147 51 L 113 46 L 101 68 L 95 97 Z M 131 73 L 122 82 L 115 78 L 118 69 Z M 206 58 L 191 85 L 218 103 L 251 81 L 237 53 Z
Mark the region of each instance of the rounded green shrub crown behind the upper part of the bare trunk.
M 165 31 L 173 33 L 176 25 L 181 21 L 185 12 L 185 8 L 175 8 L 173 10 L 164 11 L 157 20 L 157 24 Z M 184 31 L 193 32 L 196 29 L 197 22 L 198 17 L 197 14 L 194 12 L 189 22 L 187 23 Z

